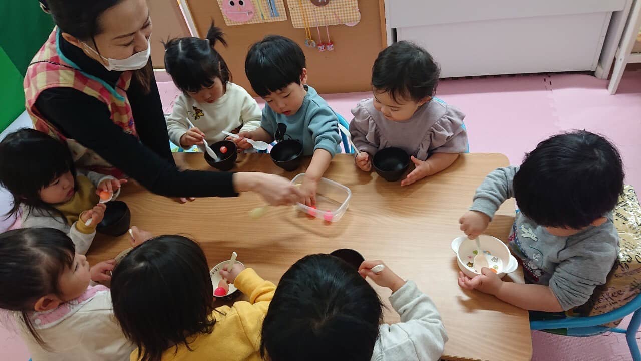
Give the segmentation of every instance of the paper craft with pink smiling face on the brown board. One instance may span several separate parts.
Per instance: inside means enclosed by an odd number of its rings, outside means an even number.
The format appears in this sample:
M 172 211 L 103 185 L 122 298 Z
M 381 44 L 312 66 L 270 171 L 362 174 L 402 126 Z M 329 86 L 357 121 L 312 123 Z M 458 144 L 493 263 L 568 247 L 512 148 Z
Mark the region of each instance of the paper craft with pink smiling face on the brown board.
M 218 0 L 218 4 L 228 25 L 287 20 L 283 0 Z

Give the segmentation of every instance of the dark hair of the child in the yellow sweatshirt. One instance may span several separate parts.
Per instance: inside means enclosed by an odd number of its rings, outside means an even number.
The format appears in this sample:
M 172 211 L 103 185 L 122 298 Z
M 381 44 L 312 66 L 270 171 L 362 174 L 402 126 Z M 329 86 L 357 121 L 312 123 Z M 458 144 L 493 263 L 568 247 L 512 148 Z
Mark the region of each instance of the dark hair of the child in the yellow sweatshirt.
M 209 267 L 201 247 L 187 237 L 142 243 L 115 267 L 111 282 L 113 313 L 142 361 L 160 360 L 179 344 L 190 349 L 190 336 L 213 330 Z

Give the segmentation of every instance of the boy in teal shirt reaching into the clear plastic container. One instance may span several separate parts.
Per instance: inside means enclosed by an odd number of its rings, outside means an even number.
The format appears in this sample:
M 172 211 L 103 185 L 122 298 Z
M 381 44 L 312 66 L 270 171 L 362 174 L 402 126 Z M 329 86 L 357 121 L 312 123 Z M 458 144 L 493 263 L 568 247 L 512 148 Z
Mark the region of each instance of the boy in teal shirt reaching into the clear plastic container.
M 279 35 L 268 35 L 256 42 L 245 60 L 251 87 L 267 106 L 260 128 L 240 136 L 272 143 L 294 139 L 303 145 L 303 155 L 312 155 L 301 190 L 308 206 L 316 204 L 320 177 L 331 159 L 340 152 L 338 118 L 327 102 L 307 84 L 305 55 L 296 42 Z M 251 145 L 245 139 L 240 148 Z

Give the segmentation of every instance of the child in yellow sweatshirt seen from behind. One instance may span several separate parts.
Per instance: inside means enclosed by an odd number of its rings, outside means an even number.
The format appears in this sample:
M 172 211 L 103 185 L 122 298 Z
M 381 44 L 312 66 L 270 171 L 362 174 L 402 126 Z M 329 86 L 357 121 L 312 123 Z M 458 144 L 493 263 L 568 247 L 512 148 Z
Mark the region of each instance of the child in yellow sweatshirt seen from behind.
M 213 308 L 207 260 L 189 238 L 158 236 L 131 251 L 112 274 L 113 313 L 137 346 L 130 360 L 261 360 L 276 285 L 240 265 L 221 275 L 249 302 Z

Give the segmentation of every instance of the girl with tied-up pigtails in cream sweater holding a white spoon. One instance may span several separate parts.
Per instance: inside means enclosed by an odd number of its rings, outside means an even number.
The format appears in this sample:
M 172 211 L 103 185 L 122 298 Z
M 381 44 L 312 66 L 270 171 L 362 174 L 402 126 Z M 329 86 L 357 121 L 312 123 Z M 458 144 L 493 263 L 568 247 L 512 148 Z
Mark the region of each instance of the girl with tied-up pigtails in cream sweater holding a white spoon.
M 222 131 L 249 132 L 260 127 L 260 107 L 231 73 L 215 44 L 227 45 L 213 26 L 206 39 L 184 37 L 165 44 L 165 68 L 182 92 L 167 118 L 169 139 L 182 148 L 209 145 L 226 139 Z M 194 128 L 190 128 L 191 121 Z M 204 150 L 204 149 L 203 149 Z

